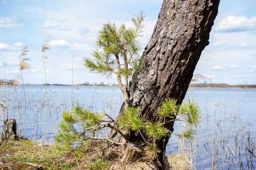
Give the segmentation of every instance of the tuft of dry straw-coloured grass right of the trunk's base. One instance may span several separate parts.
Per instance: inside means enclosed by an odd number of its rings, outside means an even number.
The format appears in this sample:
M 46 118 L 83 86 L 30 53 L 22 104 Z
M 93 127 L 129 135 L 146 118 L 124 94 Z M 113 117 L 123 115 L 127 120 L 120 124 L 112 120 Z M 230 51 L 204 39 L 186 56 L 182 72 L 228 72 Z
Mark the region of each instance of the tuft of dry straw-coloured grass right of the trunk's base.
M 171 170 L 189 170 L 192 166 L 186 154 L 173 154 L 168 157 L 168 163 Z

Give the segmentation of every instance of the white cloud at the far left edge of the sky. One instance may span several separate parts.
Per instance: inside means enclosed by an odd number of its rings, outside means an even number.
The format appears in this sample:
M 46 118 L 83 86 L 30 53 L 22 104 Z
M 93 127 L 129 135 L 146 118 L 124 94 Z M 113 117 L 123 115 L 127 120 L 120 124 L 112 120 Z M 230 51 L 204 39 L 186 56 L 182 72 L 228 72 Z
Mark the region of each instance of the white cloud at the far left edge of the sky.
M 18 30 L 23 23 L 19 23 L 16 17 L 3 17 L 0 16 L 0 28 Z

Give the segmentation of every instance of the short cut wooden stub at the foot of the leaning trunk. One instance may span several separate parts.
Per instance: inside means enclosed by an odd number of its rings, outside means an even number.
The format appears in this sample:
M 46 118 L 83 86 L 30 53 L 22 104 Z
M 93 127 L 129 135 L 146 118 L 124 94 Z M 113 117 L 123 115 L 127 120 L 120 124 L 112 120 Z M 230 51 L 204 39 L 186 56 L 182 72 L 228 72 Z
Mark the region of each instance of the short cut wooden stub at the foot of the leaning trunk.
M 128 143 L 124 153 L 123 162 L 135 162 L 141 157 L 142 149 L 133 143 Z

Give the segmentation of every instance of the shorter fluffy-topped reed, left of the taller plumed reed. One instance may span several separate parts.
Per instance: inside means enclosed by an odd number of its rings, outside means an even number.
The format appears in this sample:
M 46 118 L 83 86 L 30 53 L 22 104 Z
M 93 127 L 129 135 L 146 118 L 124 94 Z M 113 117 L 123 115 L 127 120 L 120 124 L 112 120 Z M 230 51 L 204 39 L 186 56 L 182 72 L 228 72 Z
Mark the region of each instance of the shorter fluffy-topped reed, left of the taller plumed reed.
M 23 95 L 24 95 L 24 119 L 23 119 L 23 134 L 22 137 L 24 137 L 24 130 L 25 130 L 25 117 L 26 117 L 26 95 L 25 95 L 25 89 L 24 89 L 24 83 L 23 83 L 23 78 L 22 78 L 22 73 L 21 71 L 23 70 L 28 70 L 30 69 L 30 65 L 27 63 L 27 61 L 29 61 L 29 58 L 25 58 L 24 56 L 27 55 L 27 53 L 29 52 L 29 50 L 27 49 L 27 46 L 25 46 L 21 53 L 20 53 L 20 77 L 21 77 L 21 82 L 22 82 L 22 87 L 23 87 Z

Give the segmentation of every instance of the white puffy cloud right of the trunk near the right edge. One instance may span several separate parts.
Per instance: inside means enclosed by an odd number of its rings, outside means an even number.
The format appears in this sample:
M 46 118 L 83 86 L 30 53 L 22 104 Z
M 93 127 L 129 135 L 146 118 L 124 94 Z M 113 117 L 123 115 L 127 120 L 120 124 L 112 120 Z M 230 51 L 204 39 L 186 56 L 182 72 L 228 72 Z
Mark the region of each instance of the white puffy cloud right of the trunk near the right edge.
M 256 30 L 256 16 L 247 18 L 246 16 L 242 15 L 228 15 L 217 24 L 216 30 L 223 32 L 242 32 Z

